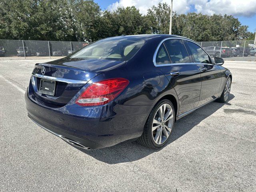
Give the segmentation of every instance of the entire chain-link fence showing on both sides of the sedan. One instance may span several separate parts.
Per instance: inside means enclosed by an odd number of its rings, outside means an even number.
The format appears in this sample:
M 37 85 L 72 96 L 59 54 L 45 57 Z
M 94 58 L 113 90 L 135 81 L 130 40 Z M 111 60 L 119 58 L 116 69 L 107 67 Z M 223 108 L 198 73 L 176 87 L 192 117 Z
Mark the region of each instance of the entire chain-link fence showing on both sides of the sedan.
M 212 57 L 224 60 L 256 61 L 254 40 L 198 42 Z M 88 42 L 0 40 L 0 60 L 62 58 Z

